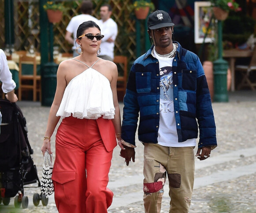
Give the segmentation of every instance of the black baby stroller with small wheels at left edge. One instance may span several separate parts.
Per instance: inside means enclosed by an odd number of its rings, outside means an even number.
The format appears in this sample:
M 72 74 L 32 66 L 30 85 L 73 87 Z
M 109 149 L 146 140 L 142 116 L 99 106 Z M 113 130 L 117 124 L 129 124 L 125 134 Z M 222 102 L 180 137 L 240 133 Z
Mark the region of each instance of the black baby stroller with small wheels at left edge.
M 24 196 L 24 185 L 41 183 L 38 179 L 37 168 L 31 158 L 31 149 L 27 138 L 26 119 L 20 108 L 8 100 L 0 99 L 2 123 L 0 126 L 0 204 L 9 205 L 14 198 L 15 208 L 26 209 L 28 197 Z M 18 194 L 18 195 L 17 195 Z M 35 193 L 33 203 L 39 202 L 47 206 L 48 198 Z

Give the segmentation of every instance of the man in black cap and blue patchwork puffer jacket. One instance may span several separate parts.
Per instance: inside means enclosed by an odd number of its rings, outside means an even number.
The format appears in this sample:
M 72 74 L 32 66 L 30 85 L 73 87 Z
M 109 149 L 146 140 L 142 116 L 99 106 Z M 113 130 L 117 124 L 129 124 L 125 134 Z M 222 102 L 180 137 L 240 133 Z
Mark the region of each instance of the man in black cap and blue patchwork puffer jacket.
M 146 213 L 159 213 L 166 175 L 171 213 L 189 211 L 194 184 L 194 152 L 207 159 L 217 146 L 211 98 L 198 56 L 172 40 L 173 22 L 165 11 L 148 17 L 151 49 L 132 65 L 122 123 L 120 156 L 135 161 L 135 133 L 144 145 L 143 201 Z

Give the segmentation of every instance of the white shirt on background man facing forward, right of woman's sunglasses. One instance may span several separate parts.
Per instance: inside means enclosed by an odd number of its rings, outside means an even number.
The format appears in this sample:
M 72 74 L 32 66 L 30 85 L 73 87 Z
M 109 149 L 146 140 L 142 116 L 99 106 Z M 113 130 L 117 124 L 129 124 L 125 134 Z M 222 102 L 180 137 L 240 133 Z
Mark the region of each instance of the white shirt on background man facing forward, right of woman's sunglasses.
M 101 34 L 104 35 L 101 43 L 101 53 L 99 56 L 109 56 L 114 58 L 114 46 L 117 37 L 117 23 L 113 19 L 108 19 L 105 22 L 99 20 L 99 26 L 101 28 Z M 113 42 L 107 42 L 109 38 L 112 38 Z

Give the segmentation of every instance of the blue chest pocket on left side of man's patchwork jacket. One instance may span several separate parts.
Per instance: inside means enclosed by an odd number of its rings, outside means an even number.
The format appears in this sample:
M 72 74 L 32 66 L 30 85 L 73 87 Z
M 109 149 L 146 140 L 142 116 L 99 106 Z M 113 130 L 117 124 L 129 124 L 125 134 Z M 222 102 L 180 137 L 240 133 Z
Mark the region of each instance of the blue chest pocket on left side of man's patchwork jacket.
M 149 93 L 151 91 L 151 72 L 136 72 L 137 93 Z

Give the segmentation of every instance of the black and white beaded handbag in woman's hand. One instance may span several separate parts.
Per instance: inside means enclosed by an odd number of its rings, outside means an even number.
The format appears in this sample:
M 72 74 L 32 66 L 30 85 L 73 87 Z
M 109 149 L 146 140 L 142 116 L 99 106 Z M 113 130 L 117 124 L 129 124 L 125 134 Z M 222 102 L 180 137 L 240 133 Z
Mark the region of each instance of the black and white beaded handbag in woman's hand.
M 42 174 L 42 180 L 41 180 L 41 192 L 45 195 L 46 198 L 49 197 L 49 195 L 53 194 L 54 188 L 53 188 L 53 180 L 52 180 L 52 174 L 53 174 L 53 154 L 49 154 L 48 150 L 45 151 L 44 156 L 44 164 L 43 164 L 43 174 Z

